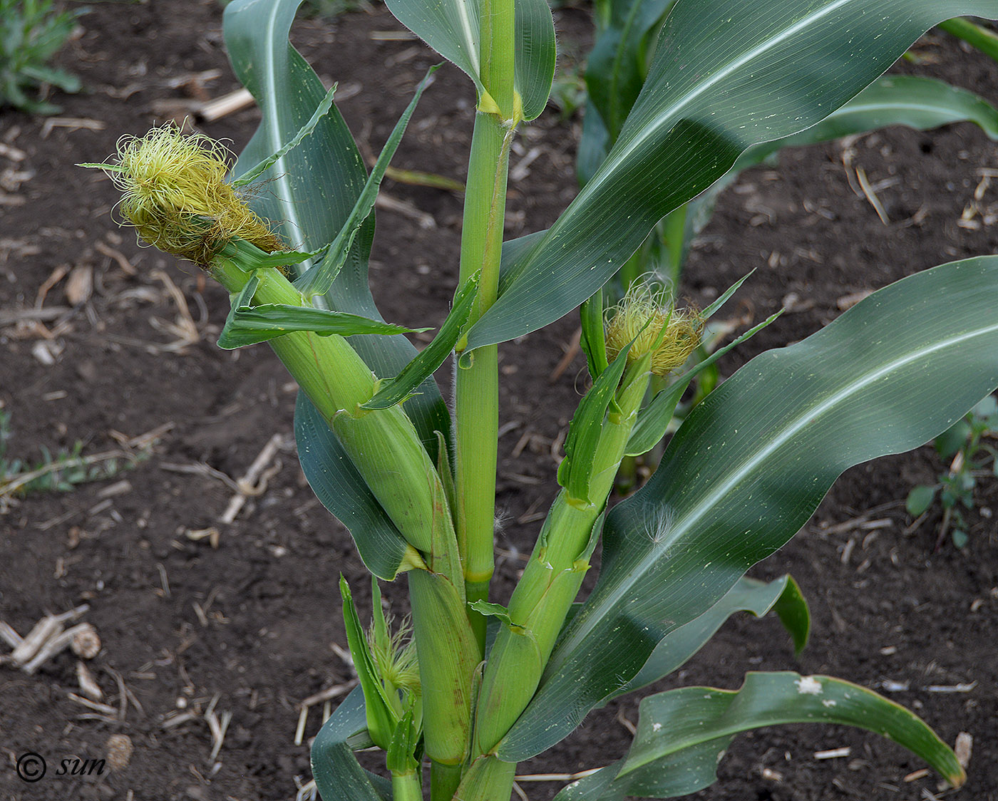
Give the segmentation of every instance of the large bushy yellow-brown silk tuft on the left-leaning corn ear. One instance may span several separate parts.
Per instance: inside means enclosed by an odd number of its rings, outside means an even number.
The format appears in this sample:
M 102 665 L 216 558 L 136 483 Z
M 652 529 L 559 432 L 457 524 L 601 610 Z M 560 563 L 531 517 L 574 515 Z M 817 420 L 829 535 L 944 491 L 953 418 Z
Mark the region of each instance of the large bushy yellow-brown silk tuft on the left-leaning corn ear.
M 287 246 L 226 183 L 229 152 L 176 125 L 118 143 L 108 175 L 122 192 L 121 211 L 150 244 L 207 266 L 234 238 L 271 253 Z

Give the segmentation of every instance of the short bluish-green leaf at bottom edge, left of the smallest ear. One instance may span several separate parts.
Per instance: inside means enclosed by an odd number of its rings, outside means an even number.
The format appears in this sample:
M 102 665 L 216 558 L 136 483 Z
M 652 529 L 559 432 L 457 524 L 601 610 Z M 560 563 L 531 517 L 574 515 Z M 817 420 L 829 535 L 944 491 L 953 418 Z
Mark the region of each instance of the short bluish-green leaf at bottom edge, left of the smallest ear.
M 312 776 L 323 801 L 391 801 L 391 783 L 364 770 L 353 755 L 354 749 L 370 745 L 364 695 L 356 686 L 312 743 Z

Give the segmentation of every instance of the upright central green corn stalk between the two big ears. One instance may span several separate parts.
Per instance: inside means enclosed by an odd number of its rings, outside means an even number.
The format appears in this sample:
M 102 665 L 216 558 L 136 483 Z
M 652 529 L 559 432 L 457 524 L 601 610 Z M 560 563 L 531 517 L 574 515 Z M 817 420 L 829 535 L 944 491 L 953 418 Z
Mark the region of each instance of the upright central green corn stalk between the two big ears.
M 481 270 L 479 294 L 468 325 L 495 302 L 499 290 L 506 212 L 509 148 L 516 127 L 513 89 L 513 0 L 481 0 L 482 84 L 475 115 L 461 237 L 460 280 Z M 499 429 L 498 350 L 479 348 L 457 370 L 456 491 L 457 539 L 469 602 L 487 601 L 494 571 L 495 482 Z M 479 650 L 485 648 L 485 619 L 469 611 Z

